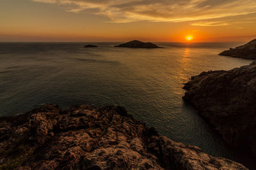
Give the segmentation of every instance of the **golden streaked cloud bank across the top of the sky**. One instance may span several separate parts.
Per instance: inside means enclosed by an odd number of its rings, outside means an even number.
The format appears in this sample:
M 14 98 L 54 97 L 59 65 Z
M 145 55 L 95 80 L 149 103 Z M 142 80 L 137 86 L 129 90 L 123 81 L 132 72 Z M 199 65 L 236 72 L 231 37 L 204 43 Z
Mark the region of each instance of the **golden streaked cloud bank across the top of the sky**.
M 186 22 L 256 13 L 255 0 L 31 0 L 108 17 L 111 22 Z M 201 24 L 207 25 L 207 24 Z M 208 25 L 214 25 L 209 24 Z M 216 23 L 215 23 L 216 25 Z M 217 24 L 218 25 L 218 24 Z

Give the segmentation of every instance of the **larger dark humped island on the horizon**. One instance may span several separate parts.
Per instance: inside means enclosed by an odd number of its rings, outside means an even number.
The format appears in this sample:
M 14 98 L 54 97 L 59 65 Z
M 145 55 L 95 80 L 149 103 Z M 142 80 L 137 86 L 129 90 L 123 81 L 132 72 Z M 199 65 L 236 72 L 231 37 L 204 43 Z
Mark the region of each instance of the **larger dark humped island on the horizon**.
M 157 46 L 153 43 L 144 43 L 138 40 L 129 41 L 128 43 L 124 43 L 115 47 L 128 47 L 128 48 L 163 48 Z

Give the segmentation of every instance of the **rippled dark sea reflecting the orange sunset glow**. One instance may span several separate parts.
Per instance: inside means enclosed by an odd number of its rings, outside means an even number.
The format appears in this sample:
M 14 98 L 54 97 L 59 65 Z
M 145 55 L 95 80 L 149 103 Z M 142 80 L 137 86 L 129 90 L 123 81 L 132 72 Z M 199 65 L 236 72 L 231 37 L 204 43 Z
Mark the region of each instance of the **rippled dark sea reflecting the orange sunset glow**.
M 114 48 L 119 43 L 0 43 L 0 116 L 43 103 L 124 106 L 174 141 L 233 159 L 217 134 L 182 101 L 182 89 L 202 71 L 232 69 L 252 60 L 219 56 L 241 43 L 157 43 L 164 48 Z

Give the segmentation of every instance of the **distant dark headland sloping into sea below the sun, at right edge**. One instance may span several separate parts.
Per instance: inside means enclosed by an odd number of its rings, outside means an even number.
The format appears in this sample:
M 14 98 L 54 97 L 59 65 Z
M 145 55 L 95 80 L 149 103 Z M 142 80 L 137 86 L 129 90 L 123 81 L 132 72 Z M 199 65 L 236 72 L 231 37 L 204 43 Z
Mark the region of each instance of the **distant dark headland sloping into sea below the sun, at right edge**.
M 230 48 L 219 55 L 225 55 L 230 57 L 238 57 L 243 59 L 256 59 L 256 39 L 253 39 L 249 43 L 237 46 L 236 48 Z

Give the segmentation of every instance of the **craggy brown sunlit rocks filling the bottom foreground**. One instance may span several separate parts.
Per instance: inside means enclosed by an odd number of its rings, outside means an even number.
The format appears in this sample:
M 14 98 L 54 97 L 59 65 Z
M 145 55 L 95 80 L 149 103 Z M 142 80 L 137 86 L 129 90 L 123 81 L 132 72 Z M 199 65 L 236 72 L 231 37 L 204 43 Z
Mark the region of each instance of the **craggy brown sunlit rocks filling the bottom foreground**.
M 45 104 L 0 118 L 0 169 L 246 169 L 176 143 L 120 106 Z

